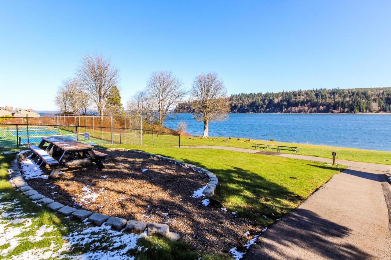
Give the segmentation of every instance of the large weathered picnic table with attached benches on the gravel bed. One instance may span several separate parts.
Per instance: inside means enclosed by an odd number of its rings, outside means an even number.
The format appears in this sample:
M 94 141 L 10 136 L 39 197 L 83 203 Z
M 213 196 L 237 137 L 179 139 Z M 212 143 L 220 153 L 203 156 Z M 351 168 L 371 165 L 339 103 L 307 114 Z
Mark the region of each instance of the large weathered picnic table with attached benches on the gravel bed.
M 106 153 L 93 150 L 93 146 L 68 139 L 63 136 L 41 137 L 38 146 L 30 145 L 33 152 L 31 158 L 39 157 L 39 167 L 48 165 L 52 172 L 49 178 L 55 178 L 64 166 L 87 165 L 95 162 L 99 169 L 104 169 L 102 160 L 108 156 Z M 48 146 L 45 147 L 45 144 Z

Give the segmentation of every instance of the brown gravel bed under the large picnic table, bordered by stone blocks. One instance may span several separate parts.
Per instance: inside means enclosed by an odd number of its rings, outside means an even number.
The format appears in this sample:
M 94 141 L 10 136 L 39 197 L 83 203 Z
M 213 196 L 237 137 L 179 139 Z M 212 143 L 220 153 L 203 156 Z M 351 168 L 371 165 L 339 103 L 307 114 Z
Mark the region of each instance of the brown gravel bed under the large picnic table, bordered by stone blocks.
M 131 151 L 104 151 L 106 169 L 95 164 L 69 167 L 55 180 L 29 179 L 40 194 L 59 203 L 92 212 L 165 223 L 195 249 L 228 253 L 246 244 L 262 227 L 234 212 L 221 210 L 218 201 L 194 198 L 208 182 L 203 173 Z M 43 171 L 50 173 L 48 168 Z M 250 235 L 245 233 L 250 231 Z

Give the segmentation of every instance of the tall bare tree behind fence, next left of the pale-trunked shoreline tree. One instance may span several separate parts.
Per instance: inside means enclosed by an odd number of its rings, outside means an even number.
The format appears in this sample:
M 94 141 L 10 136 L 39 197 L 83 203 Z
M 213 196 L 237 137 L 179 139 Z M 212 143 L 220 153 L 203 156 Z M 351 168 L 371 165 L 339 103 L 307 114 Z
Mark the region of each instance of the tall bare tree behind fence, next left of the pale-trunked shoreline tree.
M 146 90 L 156 102 L 159 123 L 164 120 L 175 103 L 181 102 L 187 91 L 182 88 L 182 81 L 171 71 L 154 71 L 147 81 Z

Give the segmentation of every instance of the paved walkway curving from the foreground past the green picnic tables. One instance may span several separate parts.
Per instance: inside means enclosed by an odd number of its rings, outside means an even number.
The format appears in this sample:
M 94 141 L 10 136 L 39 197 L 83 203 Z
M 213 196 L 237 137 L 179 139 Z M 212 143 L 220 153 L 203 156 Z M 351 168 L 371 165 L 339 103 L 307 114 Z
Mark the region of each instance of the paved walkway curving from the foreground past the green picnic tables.
M 197 148 L 256 152 L 225 146 Z M 332 161 L 304 155 L 277 156 Z M 348 160 L 337 163 L 348 168 L 271 226 L 244 259 L 391 259 L 387 208 L 391 185 L 385 178 L 391 166 Z

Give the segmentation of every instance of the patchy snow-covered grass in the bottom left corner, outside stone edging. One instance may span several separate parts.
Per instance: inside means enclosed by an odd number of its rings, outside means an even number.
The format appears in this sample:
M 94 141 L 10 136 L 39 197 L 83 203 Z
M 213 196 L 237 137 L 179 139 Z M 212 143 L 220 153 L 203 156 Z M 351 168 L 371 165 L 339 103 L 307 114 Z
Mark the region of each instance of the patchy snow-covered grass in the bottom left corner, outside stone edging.
M 0 199 L 3 195 L 4 193 L 0 193 Z M 128 255 L 129 250 L 147 250 L 136 244 L 138 239 L 147 236 L 145 233 L 135 235 L 111 230 L 104 224 L 100 227 L 86 227 L 75 223 L 69 227 L 71 232 L 61 236 L 56 231 L 56 226 L 40 225 L 39 217 L 34 215 L 24 213 L 18 199 L 0 203 L 0 258 L 129 260 L 134 259 Z M 44 239 L 45 242 L 42 241 Z M 29 243 L 35 244 L 23 251 Z M 19 249 L 16 250 L 17 248 Z

